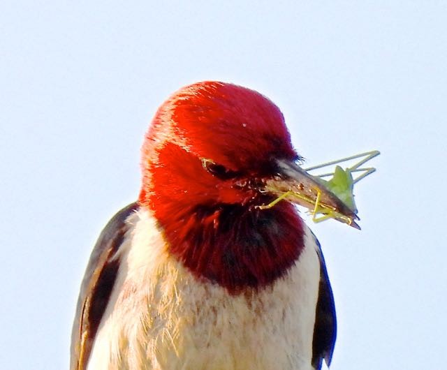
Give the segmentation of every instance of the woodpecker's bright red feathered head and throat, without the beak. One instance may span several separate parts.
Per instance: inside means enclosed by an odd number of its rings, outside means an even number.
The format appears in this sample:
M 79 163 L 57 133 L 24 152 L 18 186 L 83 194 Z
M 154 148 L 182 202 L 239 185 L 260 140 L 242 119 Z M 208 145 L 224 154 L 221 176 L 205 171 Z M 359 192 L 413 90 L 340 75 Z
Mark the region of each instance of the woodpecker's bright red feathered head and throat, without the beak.
M 265 286 L 298 258 L 303 231 L 289 202 L 258 206 L 277 198 L 266 182 L 297 182 L 288 172 L 299 159 L 268 98 L 234 84 L 193 84 L 156 112 L 142 148 L 139 201 L 196 276 L 230 291 Z

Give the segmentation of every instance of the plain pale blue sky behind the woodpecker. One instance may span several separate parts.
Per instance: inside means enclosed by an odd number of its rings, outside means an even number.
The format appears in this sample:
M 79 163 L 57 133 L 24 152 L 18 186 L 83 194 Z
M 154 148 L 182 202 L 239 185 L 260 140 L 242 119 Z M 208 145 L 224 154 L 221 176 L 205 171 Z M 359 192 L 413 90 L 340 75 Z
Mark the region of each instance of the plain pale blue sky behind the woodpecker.
M 379 149 L 362 231 L 312 225 L 339 335 L 331 369 L 443 369 L 444 1 L 3 1 L 0 369 L 68 368 L 91 248 L 135 200 L 158 105 L 199 80 L 261 91 L 307 163 Z

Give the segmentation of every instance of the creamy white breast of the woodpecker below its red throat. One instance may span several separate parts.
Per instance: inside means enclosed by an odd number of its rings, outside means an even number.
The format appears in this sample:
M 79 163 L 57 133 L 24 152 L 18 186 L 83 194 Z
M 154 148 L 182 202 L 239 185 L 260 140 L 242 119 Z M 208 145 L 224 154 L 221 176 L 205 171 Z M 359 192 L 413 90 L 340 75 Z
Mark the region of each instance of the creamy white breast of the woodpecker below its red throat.
M 320 267 L 314 238 L 284 278 L 229 295 L 198 281 L 166 252 L 141 210 L 119 250 L 121 265 L 88 370 L 311 370 Z

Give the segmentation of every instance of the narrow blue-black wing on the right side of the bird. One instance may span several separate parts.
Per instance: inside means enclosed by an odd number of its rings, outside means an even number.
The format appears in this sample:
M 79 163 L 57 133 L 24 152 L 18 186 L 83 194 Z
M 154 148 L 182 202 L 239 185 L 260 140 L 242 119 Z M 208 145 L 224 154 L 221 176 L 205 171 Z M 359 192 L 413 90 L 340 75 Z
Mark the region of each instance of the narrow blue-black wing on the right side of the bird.
M 320 288 L 318 301 L 316 302 L 312 366 L 316 370 L 321 370 L 323 360 L 325 360 L 328 366 L 330 365 L 330 360 L 332 360 L 335 338 L 337 336 L 337 318 L 335 317 L 334 296 L 332 295 L 332 288 L 330 288 L 321 245 L 315 235 L 314 238 L 318 245 L 317 253 L 320 259 Z

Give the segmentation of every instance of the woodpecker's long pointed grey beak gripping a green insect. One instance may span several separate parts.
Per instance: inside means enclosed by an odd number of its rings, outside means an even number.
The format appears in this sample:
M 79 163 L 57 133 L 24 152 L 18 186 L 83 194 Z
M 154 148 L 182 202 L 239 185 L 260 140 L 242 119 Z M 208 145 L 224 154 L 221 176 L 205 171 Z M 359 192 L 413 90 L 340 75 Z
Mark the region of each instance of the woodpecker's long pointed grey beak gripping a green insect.
M 310 175 L 292 161 L 279 160 L 277 164 L 278 176 L 266 180 L 264 191 L 278 198 L 270 205 L 263 205 L 261 208 L 269 208 L 279 200 L 287 200 L 309 209 L 314 219 L 316 214 L 320 214 L 323 215 L 320 219 L 332 218 L 360 229 L 356 223 L 358 220 L 356 210 L 342 202 L 318 177 Z

